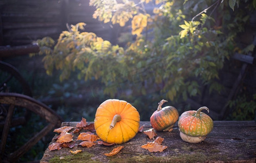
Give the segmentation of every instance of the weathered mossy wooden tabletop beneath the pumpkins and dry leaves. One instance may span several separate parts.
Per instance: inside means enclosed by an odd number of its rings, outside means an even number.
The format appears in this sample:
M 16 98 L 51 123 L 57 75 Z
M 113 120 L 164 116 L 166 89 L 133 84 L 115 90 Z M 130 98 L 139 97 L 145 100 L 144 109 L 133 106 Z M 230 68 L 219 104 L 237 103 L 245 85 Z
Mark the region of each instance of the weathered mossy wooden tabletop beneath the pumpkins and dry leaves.
M 70 122 L 75 127 L 78 122 Z M 62 126 L 67 126 L 63 122 Z M 143 131 L 151 129 L 149 122 Z M 83 130 L 80 132 L 84 132 Z M 79 133 L 74 134 L 76 140 Z M 105 156 L 121 145 L 96 145 L 86 148 L 76 145 L 73 148 L 61 148 L 49 151 L 47 148 L 41 162 L 256 162 L 256 122 L 255 121 L 214 121 L 213 131 L 203 142 L 191 144 L 180 139 L 177 123 L 171 132 L 157 132 L 164 138 L 163 152 L 149 152 L 142 145 L 153 140 L 139 132 L 132 140 L 123 143 L 124 148 L 114 156 Z M 55 135 L 49 145 L 55 142 Z M 69 151 L 81 149 L 83 152 L 71 154 Z

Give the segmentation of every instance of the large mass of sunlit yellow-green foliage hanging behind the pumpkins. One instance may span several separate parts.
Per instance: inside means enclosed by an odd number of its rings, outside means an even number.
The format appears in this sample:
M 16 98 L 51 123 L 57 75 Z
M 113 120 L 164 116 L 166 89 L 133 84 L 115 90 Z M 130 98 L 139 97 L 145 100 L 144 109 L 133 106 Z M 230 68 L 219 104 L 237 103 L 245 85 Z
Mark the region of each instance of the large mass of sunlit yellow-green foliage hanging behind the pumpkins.
M 54 46 L 49 38 L 38 40 L 47 74 L 60 70 L 63 81 L 78 72 L 78 79 L 100 81 L 110 97 L 157 92 L 178 102 L 200 96 L 205 85 L 210 93 L 220 93 L 218 72 L 224 61 L 236 48 L 253 51 L 253 45 L 244 47 L 236 38 L 255 2 L 155 1 L 152 15 L 145 10 L 148 2 L 91 0 L 99 21 L 124 26 L 131 20 L 136 40 L 126 47 L 111 45 L 94 33 L 80 32 L 85 24 L 78 23 L 61 33 Z

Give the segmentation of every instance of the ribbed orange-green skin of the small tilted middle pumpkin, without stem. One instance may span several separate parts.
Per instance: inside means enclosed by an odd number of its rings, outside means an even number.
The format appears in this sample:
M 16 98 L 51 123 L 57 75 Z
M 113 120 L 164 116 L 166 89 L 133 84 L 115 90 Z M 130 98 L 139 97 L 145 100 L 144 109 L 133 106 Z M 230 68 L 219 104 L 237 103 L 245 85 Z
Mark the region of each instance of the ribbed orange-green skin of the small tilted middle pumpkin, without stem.
M 150 117 L 151 126 L 157 131 L 171 127 L 179 118 L 179 113 L 173 106 L 166 106 L 160 111 L 153 112 Z

